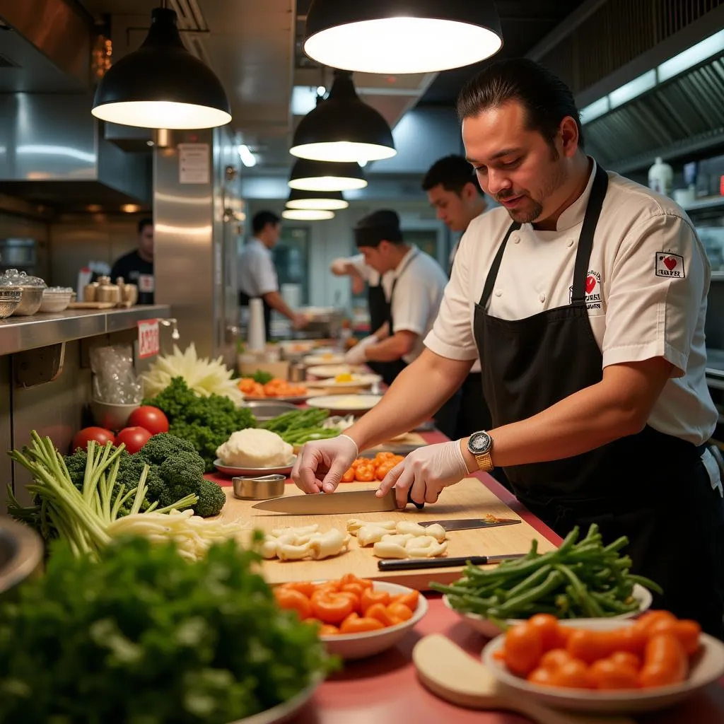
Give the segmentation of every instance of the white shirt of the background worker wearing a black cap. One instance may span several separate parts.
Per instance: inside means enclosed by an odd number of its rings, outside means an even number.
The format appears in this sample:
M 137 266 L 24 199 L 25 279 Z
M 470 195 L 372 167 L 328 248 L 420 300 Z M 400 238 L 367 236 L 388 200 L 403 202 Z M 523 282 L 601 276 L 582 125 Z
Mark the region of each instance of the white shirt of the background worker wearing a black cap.
M 403 356 L 403 361 L 409 364 L 425 348 L 424 338 L 437 317 L 447 285 L 447 274 L 432 256 L 412 245 L 392 275 L 395 281 L 395 293 L 392 295 L 395 332 L 418 335 L 411 352 Z

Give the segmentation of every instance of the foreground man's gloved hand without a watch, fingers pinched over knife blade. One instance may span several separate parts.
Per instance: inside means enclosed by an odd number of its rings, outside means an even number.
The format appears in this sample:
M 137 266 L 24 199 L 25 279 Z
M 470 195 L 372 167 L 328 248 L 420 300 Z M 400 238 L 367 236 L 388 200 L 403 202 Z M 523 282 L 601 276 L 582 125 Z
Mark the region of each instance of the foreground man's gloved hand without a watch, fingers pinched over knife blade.
M 357 443 L 347 435 L 307 442 L 297 455 L 292 480 L 306 493 L 332 493 L 358 455 Z

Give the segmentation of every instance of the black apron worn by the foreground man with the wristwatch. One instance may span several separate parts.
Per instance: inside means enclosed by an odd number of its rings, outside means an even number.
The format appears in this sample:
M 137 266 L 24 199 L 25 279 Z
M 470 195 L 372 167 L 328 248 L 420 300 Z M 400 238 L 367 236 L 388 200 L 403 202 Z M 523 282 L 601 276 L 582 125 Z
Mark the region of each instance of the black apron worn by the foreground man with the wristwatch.
M 484 395 L 495 427 L 525 420 L 602 379 L 602 353 L 586 310 L 586 277 L 608 177 L 597 167 L 581 228 L 571 303 L 526 319 L 487 313 L 511 233 L 502 240 L 475 309 Z M 610 213 L 614 213 L 613 210 Z M 646 426 L 638 434 L 564 460 L 505 468 L 523 505 L 565 536 L 598 523 L 604 542 L 620 535 L 633 571 L 662 586 L 654 607 L 694 618 L 723 636 L 724 501 L 696 447 Z M 493 447 L 494 457 L 494 447 Z

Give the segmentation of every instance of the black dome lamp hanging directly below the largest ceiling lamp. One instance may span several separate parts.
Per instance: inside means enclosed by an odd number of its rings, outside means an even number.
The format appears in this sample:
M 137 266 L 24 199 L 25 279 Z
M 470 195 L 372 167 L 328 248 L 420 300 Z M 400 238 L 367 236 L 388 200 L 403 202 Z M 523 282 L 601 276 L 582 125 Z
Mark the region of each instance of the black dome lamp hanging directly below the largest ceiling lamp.
M 315 161 L 379 161 L 397 151 L 390 125 L 360 100 L 352 74 L 335 70 L 327 100 L 301 119 L 290 153 Z

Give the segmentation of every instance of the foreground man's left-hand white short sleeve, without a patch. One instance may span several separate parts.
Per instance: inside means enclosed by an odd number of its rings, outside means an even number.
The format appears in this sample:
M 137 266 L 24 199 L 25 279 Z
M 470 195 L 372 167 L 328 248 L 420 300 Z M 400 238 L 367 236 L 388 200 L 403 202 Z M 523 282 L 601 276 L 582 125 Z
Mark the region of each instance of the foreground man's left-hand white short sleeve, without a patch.
M 450 282 L 430 333 L 425 337 L 425 346 L 441 357 L 453 360 L 474 360 L 478 349 L 473 336 L 473 291 L 471 290 L 470 269 L 476 269 L 473 255 L 476 251 L 476 227 L 479 219 L 473 220 L 460 239 L 452 265 Z

